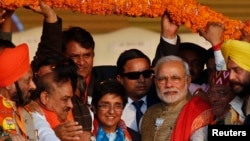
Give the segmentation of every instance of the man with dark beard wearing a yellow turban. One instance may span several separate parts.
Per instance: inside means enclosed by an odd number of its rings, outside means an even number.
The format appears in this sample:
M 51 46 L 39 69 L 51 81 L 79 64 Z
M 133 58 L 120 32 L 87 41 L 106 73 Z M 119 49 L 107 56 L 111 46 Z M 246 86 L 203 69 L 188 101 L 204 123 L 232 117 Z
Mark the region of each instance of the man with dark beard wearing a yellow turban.
M 250 43 L 226 40 L 221 47 L 221 52 L 230 72 L 229 80 L 232 88 L 245 102 L 242 107 L 247 116 L 245 124 L 250 124 Z

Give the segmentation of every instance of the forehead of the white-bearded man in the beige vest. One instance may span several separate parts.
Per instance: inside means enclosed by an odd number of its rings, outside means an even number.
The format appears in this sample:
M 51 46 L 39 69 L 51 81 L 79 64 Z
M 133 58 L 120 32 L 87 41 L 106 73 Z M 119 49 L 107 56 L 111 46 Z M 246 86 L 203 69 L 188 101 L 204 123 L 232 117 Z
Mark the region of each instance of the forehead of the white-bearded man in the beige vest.
M 171 61 L 162 63 L 158 70 L 158 75 L 183 75 L 185 74 L 185 69 L 180 61 Z

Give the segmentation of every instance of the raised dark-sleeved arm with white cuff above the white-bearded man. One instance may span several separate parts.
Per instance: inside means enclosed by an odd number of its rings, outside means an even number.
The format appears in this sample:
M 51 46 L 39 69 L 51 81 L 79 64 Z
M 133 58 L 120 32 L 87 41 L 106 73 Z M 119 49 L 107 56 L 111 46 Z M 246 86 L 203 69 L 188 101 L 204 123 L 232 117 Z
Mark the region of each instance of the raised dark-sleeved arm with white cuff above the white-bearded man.
M 180 37 L 177 35 L 178 26 L 171 22 L 167 13 L 161 18 L 161 39 L 157 46 L 152 66 L 163 56 L 175 55 L 179 50 Z

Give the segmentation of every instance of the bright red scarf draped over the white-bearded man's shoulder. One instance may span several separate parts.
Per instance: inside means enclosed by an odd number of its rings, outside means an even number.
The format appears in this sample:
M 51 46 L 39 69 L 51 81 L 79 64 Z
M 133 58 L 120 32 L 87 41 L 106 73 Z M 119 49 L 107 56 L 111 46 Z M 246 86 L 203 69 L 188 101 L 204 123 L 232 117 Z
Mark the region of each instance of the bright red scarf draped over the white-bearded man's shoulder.
M 189 141 L 199 128 L 209 124 L 212 110 L 200 96 L 194 96 L 182 108 L 171 135 L 171 141 Z

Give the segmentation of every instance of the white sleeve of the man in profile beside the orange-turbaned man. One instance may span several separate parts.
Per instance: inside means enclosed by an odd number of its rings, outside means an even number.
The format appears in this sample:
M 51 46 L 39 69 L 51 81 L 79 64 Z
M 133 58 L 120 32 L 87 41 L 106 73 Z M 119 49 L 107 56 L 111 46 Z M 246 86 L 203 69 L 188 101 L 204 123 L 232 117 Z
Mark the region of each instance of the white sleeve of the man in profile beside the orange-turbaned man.
M 32 112 L 35 129 L 38 130 L 38 141 L 60 141 L 50 127 L 44 115 Z

